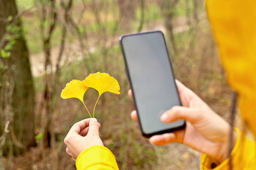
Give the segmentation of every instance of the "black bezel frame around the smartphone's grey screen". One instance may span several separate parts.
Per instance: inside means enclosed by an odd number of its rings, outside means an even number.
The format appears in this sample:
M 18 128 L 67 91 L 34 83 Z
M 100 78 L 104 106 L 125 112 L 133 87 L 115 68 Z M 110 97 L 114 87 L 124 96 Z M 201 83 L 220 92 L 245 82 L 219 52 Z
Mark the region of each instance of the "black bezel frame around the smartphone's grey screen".
M 166 48 L 166 52 L 167 52 L 167 55 L 168 55 L 168 60 L 169 60 L 169 64 L 170 64 L 170 67 L 171 67 L 171 70 L 172 70 L 172 73 L 173 73 L 173 67 L 172 67 L 172 63 L 171 63 L 171 60 L 170 60 L 170 56 L 169 56 L 169 52 L 168 52 L 168 48 L 166 46 L 166 41 L 165 41 L 165 38 L 164 38 L 164 34 L 162 31 L 147 31 L 147 32 L 138 32 L 138 33 L 134 33 L 134 34 L 125 34 L 124 36 L 120 36 L 119 38 L 119 41 L 120 41 L 120 46 L 121 46 L 121 50 L 122 50 L 122 53 L 123 53 L 123 57 L 124 57 L 124 61 L 125 61 L 125 71 L 127 73 L 127 76 L 128 76 L 128 79 L 129 79 L 129 83 L 130 83 L 130 87 L 132 89 L 132 96 L 133 96 L 133 99 L 134 99 L 134 107 L 137 111 L 137 114 L 138 114 L 138 120 L 139 120 L 139 124 L 140 124 L 140 130 L 141 130 L 141 134 L 142 136 L 144 136 L 145 138 L 150 138 L 151 136 L 154 136 L 156 134 L 164 134 L 164 133 L 167 133 L 167 132 L 173 132 L 173 131 L 178 131 L 178 130 L 181 130 L 181 129 L 184 129 L 186 127 L 186 122 L 183 120 L 183 124 L 180 125 L 180 126 L 177 126 L 177 127 L 172 127 L 170 129 L 165 129 L 163 131 L 157 131 L 157 132 L 152 132 L 150 134 L 147 134 L 143 131 L 142 127 L 141 127 L 141 118 L 140 118 L 140 113 L 138 113 L 138 106 L 137 106 L 137 102 L 136 102 L 136 94 L 134 94 L 134 90 L 133 90 L 133 86 L 132 86 L 132 81 L 131 81 L 131 76 L 130 76 L 130 73 L 129 73 L 129 67 L 128 67 L 128 64 L 127 64 L 127 60 L 126 60 L 126 57 L 125 57 L 125 52 L 124 52 L 124 46 L 122 44 L 122 41 L 125 37 L 127 36 L 138 36 L 138 35 L 141 35 L 141 34 L 152 34 L 152 33 L 156 33 L 156 32 L 159 32 L 162 34 L 163 36 L 163 39 L 164 39 L 164 46 Z M 172 76 L 173 80 L 175 80 L 175 77 L 174 77 L 174 74 Z M 175 89 L 177 90 L 177 85 L 175 83 Z M 177 94 L 178 94 L 178 97 L 179 97 L 179 92 L 177 90 Z M 179 97 L 179 104 L 181 106 L 181 103 L 180 103 L 180 97 Z

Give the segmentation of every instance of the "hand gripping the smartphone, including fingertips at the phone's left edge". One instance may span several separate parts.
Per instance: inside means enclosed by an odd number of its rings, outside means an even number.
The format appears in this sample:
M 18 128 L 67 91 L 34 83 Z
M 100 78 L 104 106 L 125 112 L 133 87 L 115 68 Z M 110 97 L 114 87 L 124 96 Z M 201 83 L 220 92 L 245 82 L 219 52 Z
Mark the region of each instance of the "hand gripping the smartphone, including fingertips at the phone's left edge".
M 230 125 L 212 111 L 194 92 L 177 80 L 176 84 L 182 106 L 170 108 L 164 113 L 166 117 L 161 117 L 161 121 L 169 124 L 175 120 L 183 119 L 186 120 L 186 129 L 157 134 L 149 139 L 150 143 L 154 145 L 183 143 L 199 152 L 206 153 L 219 162 L 223 162 L 228 157 Z M 128 94 L 132 97 L 131 90 Z M 131 112 L 131 118 L 138 121 L 136 110 Z M 237 139 L 236 131 L 233 132 L 232 147 L 234 147 Z

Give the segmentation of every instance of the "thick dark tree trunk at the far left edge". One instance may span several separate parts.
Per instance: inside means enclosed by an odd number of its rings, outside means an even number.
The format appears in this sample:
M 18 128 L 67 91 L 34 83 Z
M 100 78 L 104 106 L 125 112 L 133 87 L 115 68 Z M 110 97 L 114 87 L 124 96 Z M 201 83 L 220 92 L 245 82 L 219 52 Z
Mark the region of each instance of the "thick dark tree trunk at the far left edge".
M 4 146 L 4 152 L 10 153 L 12 151 L 11 154 L 14 155 L 18 155 L 29 146 L 35 145 L 35 92 L 28 48 L 22 32 L 21 20 L 16 18 L 17 15 L 15 0 L 0 0 L 0 39 L 3 39 L 4 35 L 8 34 L 6 31 L 7 25 L 15 25 L 20 30 L 19 36 L 15 39 L 12 50 L 10 50 L 10 58 L 3 59 L 8 63 L 8 69 L 14 83 L 12 94 L 13 128 L 10 128 L 10 135 L 8 135 L 6 141 L 8 145 Z

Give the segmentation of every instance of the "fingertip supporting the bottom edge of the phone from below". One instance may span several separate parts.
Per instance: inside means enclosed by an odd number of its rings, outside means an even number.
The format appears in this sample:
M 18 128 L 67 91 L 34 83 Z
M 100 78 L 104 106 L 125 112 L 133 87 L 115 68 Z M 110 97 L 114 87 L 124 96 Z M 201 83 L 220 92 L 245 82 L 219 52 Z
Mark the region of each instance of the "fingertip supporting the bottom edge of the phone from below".
M 168 143 L 175 142 L 175 134 L 166 133 L 166 134 L 155 135 L 155 136 L 152 136 L 149 139 L 149 141 L 154 145 L 166 145 Z

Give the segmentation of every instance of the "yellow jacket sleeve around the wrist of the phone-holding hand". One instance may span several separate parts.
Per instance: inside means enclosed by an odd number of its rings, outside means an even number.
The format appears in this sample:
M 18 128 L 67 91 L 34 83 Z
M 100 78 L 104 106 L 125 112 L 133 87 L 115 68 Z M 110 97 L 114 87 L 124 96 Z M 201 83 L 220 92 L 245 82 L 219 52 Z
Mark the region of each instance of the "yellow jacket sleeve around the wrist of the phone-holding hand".
M 239 130 L 235 130 L 238 134 L 237 141 L 230 154 L 230 158 L 219 164 L 216 160 L 202 153 L 200 169 L 229 170 L 230 162 L 232 162 L 232 170 L 256 169 L 255 142 L 246 138 Z

